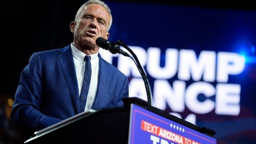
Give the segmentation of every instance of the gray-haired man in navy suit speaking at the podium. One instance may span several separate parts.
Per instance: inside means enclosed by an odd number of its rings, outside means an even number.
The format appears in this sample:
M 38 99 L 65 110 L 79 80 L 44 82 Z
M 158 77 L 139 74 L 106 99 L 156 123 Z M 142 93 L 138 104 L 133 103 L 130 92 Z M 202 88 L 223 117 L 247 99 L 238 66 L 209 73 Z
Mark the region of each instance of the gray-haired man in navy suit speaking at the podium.
M 11 121 L 33 134 L 87 110 L 122 107 L 128 97 L 128 79 L 98 53 L 96 39 L 109 37 L 112 16 L 102 1 L 90 0 L 70 23 L 73 43 L 62 49 L 34 53 L 21 73 Z M 85 56 L 90 56 L 91 79 L 86 106 L 79 99 L 83 88 Z

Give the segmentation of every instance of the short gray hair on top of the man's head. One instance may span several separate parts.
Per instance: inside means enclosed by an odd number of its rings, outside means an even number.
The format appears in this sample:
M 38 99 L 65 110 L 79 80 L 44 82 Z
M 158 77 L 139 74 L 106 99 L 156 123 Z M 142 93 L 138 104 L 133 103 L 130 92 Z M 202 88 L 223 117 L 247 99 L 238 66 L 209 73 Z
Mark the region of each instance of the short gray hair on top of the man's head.
M 109 31 L 111 24 L 112 24 L 112 15 L 111 15 L 111 10 L 109 8 L 109 6 L 107 4 L 105 4 L 104 2 L 100 1 L 100 0 L 88 0 L 85 4 L 83 4 L 77 11 L 76 15 L 75 15 L 75 21 L 77 21 L 79 15 L 82 13 L 82 11 L 85 9 L 86 6 L 88 6 L 89 4 L 98 4 L 102 7 L 104 7 L 107 12 L 109 13 L 110 16 L 110 21 L 109 21 L 109 25 L 107 26 L 107 31 Z

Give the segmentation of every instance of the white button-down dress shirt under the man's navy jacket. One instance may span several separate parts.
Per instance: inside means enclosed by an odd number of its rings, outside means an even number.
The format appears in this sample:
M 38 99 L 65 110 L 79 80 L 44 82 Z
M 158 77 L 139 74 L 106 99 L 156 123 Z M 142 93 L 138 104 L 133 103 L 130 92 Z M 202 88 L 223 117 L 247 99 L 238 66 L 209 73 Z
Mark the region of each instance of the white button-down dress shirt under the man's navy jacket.
M 81 94 L 81 88 L 83 86 L 83 77 L 85 74 L 85 53 L 81 52 L 71 44 L 71 50 L 73 54 L 73 60 L 75 64 L 75 73 L 77 76 L 77 84 L 79 89 L 79 96 Z M 90 88 L 87 96 L 87 102 L 85 105 L 85 111 L 93 111 L 92 104 L 96 97 L 97 86 L 98 86 L 98 73 L 99 73 L 99 58 L 98 52 L 96 54 L 89 55 L 91 57 L 90 62 L 92 64 L 92 76 L 90 80 Z

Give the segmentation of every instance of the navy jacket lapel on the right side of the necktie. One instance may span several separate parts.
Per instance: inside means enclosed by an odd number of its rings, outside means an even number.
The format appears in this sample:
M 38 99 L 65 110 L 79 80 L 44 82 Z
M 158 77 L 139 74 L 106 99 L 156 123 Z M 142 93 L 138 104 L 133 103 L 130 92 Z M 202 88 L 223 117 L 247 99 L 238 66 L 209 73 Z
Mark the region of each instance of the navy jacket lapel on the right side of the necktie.
M 92 109 L 98 109 L 100 104 L 102 103 L 102 98 L 105 95 L 105 87 L 107 86 L 109 82 L 109 73 L 110 69 L 108 67 L 108 64 L 99 56 L 99 76 L 98 76 L 98 88 L 97 88 L 97 94 L 95 97 L 95 101 L 92 105 Z

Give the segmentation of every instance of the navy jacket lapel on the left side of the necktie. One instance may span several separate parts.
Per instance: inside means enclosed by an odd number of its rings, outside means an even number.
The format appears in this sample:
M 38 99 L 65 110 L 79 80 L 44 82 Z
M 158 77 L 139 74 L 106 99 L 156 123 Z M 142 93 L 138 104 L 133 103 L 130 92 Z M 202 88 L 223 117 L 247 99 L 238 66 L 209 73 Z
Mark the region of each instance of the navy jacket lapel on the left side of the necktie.
M 73 55 L 72 55 L 70 45 L 68 45 L 64 49 L 60 49 L 59 52 L 60 53 L 57 54 L 57 58 L 60 63 L 60 67 L 62 69 L 62 73 L 64 74 L 65 80 L 68 84 L 68 88 L 72 95 L 72 99 L 75 103 L 75 108 L 78 114 L 80 113 L 79 90 L 78 90 L 77 77 L 75 74 L 75 65 L 74 65 Z

